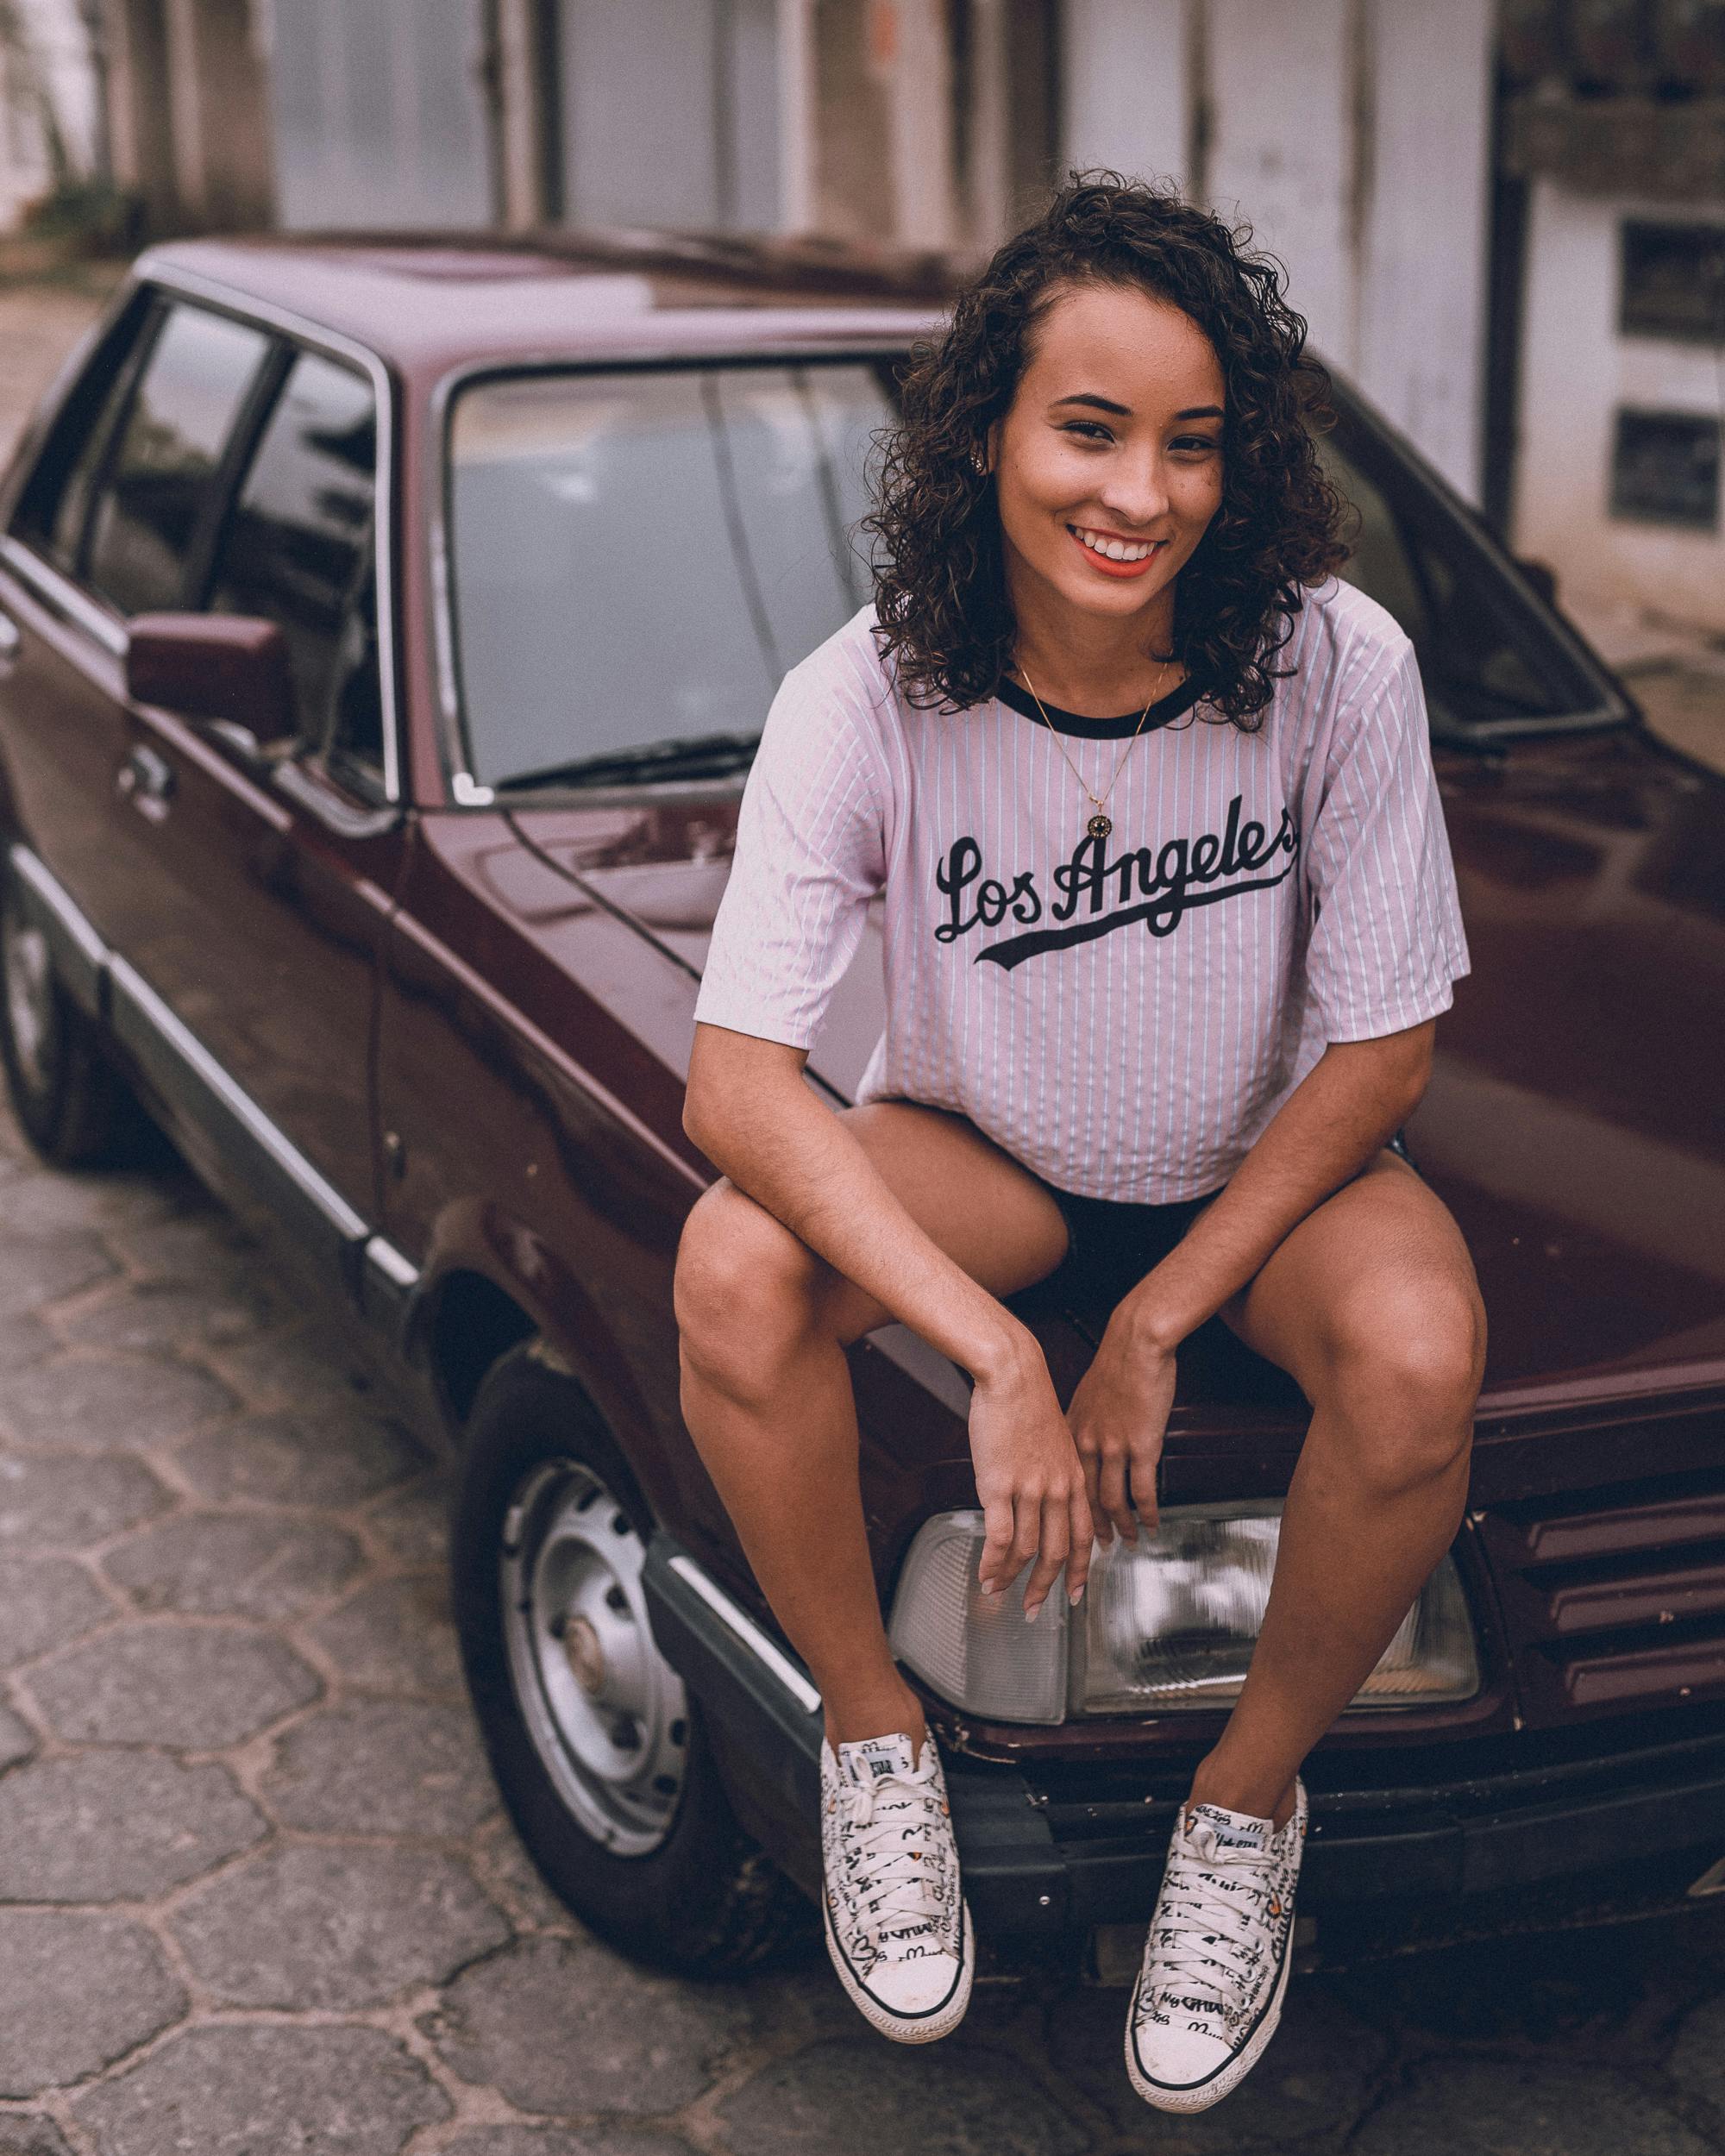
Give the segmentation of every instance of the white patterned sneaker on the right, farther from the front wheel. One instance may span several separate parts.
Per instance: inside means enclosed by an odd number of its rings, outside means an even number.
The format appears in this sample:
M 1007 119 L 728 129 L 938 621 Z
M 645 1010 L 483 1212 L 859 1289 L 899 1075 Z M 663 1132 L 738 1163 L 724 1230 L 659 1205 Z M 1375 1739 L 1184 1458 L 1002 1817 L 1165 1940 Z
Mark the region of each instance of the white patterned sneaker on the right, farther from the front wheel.
M 1281 1833 L 1220 1805 L 1179 1813 L 1126 2016 L 1126 2072 L 1158 2111 L 1208 2111 L 1276 2033 L 1305 1837 L 1300 1781 Z

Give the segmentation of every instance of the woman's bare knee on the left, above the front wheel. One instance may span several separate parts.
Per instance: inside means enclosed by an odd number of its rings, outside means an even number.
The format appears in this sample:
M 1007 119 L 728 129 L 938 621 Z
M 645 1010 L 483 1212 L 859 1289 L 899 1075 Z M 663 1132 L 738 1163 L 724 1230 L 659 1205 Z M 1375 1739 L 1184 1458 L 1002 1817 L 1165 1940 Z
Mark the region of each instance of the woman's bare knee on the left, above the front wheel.
M 753 1399 L 806 1339 L 819 1259 L 733 1184 L 690 1212 L 677 1246 L 675 1311 L 684 1367 Z

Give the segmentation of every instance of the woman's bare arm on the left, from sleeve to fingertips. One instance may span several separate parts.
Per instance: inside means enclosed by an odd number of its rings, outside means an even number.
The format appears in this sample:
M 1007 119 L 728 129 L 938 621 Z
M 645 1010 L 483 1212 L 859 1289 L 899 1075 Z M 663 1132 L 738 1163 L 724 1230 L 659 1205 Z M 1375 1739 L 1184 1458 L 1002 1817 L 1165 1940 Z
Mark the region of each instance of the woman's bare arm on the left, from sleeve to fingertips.
M 843 1121 L 804 1084 L 806 1052 L 724 1026 L 694 1028 L 684 1130 L 724 1175 L 847 1281 L 975 1380 L 970 1453 L 1000 1591 L 1035 1557 L 1033 1617 L 1067 1565 L 1076 1600 L 1091 1514 L 1041 1348 L 910 1218 Z

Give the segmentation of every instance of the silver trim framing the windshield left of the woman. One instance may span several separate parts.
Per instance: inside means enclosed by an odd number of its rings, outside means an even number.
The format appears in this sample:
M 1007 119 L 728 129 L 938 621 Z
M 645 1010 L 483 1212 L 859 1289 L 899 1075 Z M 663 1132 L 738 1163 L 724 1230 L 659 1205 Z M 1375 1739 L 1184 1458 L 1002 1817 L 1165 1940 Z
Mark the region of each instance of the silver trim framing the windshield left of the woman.
M 690 356 L 664 345 L 643 345 L 636 351 L 608 351 L 604 358 L 582 358 L 567 351 L 533 351 L 507 360 L 464 360 L 442 375 L 431 390 L 429 427 L 425 431 L 427 472 L 425 498 L 431 505 L 427 524 L 427 565 L 431 580 L 431 668 L 436 679 L 438 709 L 438 757 L 442 763 L 444 798 L 457 808 L 492 808 L 494 789 L 481 785 L 472 770 L 468 746 L 466 711 L 461 709 L 461 651 L 455 627 L 455 565 L 451 556 L 451 483 L 453 461 L 448 455 L 448 429 L 455 418 L 455 401 L 479 382 L 509 382 L 518 375 L 649 375 L 686 373 L 712 375 L 718 371 L 753 373 L 770 367 L 871 367 L 880 369 L 906 356 L 903 332 L 867 334 L 845 338 L 834 345 L 774 345 L 770 351 L 748 347 L 746 351 L 716 351 Z M 699 780 L 696 780 L 699 783 Z M 731 780 L 722 780 L 727 787 Z M 636 800 L 647 791 L 647 783 L 636 787 L 606 787 L 608 800 Z M 597 791 L 582 789 L 582 800 L 597 802 Z M 666 798 L 666 785 L 653 789 L 656 800 Z M 520 806 L 515 802 L 513 806 Z

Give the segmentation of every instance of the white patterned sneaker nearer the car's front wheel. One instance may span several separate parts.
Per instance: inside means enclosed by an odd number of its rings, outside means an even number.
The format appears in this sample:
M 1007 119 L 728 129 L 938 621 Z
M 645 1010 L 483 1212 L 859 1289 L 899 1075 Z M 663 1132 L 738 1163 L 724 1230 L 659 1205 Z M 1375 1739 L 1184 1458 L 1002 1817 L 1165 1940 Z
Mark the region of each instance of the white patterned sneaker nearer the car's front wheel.
M 964 2020 L 977 1947 L 960 1893 L 947 1777 L 934 1738 L 822 1744 L 826 1951 L 862 2014 L 899 2044 Z

